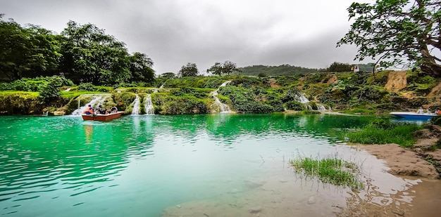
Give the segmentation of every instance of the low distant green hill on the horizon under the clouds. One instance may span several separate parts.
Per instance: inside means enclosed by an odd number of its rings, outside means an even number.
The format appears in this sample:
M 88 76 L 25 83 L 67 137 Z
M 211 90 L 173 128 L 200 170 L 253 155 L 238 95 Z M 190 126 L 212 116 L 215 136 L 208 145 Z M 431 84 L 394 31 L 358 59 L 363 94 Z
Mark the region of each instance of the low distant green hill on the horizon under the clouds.
M 276 76 L 276 75 L 294 75 L 294 74 L 309 74 L 316 72 L 325 72 L 325 69 L 309 69 L 294 65 L 279 65 L 279 66 L 268 66 L 268 65 L 253 65 L 247 67 L 238 68 L 241 72 L 235 74 L 242 75 L 252 75 L 258 76 L 266 75 L 266 76 Z

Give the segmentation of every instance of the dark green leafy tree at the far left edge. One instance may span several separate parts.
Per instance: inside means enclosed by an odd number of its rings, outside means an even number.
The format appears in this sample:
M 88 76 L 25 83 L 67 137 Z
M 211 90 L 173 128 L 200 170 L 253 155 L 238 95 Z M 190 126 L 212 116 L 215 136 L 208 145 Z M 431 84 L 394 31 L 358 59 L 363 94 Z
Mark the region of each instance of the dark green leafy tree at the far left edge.
M 58 67 L 59 50 L 58 38 L 51 31 L 0 20 L 0 72 L 4 77 L 15 80 L 51 75 Z

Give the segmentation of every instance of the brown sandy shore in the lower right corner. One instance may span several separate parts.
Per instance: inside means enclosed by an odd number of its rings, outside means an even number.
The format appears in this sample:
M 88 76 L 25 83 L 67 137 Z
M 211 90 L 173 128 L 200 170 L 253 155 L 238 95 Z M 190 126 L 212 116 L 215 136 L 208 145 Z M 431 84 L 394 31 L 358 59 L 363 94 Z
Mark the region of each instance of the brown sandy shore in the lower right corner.
M 418 140 L 416 147 L 421 147 L 426 140 Z M 386 145 L 356 145 L 356 148 L 366 150 L 378 159 L 383 159 L 390 168 L 387 172 L 402 178 L 413 178 L 421 180 L 421 183 L 414 185 L 406 192 L 411 194 L 412 199 L 410 210 L 399 211 L 395 216 L 440 216 L 441 211 L 441 180 L 440 174 L 433 164 L 427 162 L 421 154 L 415 150 L 399 147 L 397 144 Z M 441 150 L 425 152 L 433 159 L 440 160 Z M 378 215 L 378 208 L 372 209 L 372 216 Z M 376 211 L 375 211 L 376 210 Z M 374 214 L 377 213 L 377 214 Z

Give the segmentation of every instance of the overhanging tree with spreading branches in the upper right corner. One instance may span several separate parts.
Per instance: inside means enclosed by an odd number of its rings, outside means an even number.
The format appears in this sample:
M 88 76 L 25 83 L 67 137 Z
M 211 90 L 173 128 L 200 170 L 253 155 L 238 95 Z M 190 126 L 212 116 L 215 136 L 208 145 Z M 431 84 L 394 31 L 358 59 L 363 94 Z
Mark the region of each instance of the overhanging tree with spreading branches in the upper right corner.
M 406 64 L 441 76 L 439 0 L 354 2 L 347 11 L 355 21 L 337 46 L 355 44 L 359 53 L 354 60 L 378 58 L 375 64 L 383 67 Z

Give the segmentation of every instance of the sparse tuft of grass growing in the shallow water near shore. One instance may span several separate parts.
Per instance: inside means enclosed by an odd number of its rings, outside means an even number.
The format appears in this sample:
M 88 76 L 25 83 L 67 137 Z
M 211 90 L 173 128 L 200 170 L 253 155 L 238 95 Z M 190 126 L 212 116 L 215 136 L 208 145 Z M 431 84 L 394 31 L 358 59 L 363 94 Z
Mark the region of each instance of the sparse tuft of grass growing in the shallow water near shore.
M 364 188 L 360 181 L 360 166 L 346 162 L 336 155 L 323 159 L 299 157 L 291 160 L 290 164 L 298 173 L 306 177 L 317 176 L 323 183 L 348 186 L 350 188 Z

